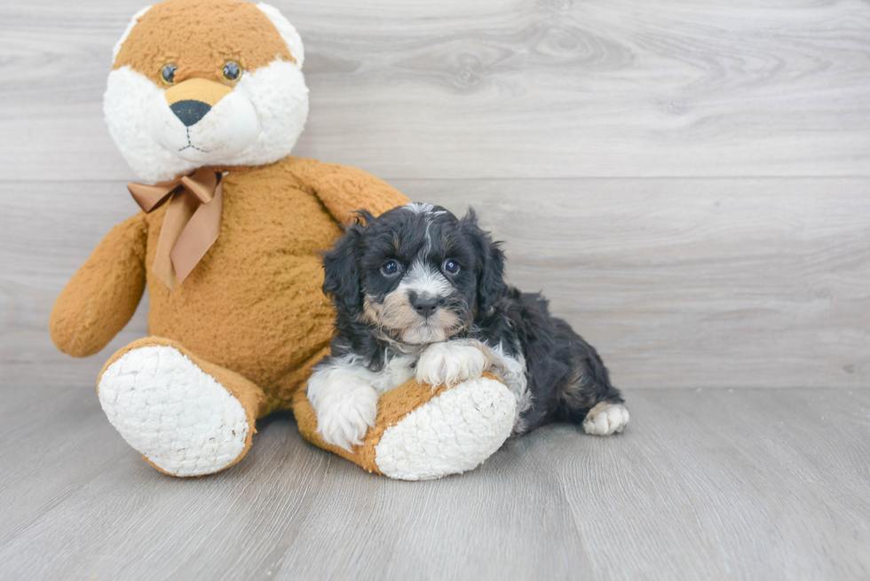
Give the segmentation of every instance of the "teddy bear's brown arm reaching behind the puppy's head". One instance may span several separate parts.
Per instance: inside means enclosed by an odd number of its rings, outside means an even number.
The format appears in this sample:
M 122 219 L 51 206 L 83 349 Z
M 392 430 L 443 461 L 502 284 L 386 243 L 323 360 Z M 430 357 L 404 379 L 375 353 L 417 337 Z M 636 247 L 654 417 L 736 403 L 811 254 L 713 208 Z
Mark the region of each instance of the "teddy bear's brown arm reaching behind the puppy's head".
M 318 161 L 310 176 L 314 193 L 340 224 L 350 223 L 357 210 L 367 209 L 378 216 L 409 201 L 392 185 L 362 169 Z

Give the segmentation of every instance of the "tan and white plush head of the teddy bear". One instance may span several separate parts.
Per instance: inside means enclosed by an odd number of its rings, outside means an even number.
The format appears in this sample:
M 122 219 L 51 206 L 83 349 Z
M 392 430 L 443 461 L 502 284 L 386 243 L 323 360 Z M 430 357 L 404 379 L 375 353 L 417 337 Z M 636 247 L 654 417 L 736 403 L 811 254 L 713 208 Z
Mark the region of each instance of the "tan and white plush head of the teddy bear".
M 304 58 L 296 29 L 269 4 L 148 6 L 115 44 L 103 102 L 109 132 L 146 182 L 278 161 L 308 116 Z

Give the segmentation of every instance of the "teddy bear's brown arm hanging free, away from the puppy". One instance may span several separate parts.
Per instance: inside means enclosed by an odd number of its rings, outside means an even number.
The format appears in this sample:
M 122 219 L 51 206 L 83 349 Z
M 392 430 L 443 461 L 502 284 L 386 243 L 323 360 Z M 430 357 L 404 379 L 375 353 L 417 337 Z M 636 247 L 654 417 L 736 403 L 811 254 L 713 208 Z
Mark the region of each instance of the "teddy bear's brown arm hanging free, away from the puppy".
M 106 347 L 136 312 L 146 283 L 145 213 L 113 228 L 75 272 L 51 309 L 51 340 L 73 357 Z

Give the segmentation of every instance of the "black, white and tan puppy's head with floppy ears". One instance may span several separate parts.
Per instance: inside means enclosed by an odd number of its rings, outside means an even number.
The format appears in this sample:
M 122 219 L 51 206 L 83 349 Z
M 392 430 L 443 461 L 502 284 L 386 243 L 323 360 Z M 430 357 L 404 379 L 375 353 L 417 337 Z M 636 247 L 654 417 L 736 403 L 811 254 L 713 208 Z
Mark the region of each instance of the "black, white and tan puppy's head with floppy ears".
M 461 220 L 410 203 L 362 213 L 324 255 L 323 291 L 340 317 L 412 345 L 446 341 L 507 291 L 504 255 L 473 210 Z

